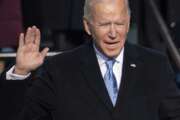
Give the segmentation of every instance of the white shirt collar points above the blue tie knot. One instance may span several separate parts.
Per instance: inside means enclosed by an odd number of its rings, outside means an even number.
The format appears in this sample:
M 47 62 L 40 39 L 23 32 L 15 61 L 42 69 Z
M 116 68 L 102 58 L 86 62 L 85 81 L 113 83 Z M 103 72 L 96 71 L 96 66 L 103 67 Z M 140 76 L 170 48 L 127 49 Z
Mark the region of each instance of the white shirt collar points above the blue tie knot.
M 104 64 L 108 60 L 108 58 L 96 48 L 95 44 L 93 44 L 93 47 L 94 47 L 99 64 L 100 65 Z M 120 54 L 115 58 L 116 62 L 122 64 L 123 56 L 124 56 L 124 47 L 122 48 Z

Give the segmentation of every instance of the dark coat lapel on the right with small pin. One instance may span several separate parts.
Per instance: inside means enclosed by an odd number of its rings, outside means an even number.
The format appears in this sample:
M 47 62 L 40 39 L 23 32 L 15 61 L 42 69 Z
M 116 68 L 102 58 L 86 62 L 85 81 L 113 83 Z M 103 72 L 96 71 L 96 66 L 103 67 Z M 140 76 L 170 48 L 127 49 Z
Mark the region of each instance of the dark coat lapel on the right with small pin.
M 135 47 L 126 43 L 125 51 L 124 51 L 124 63 L 123 63 L 121 85 L 120 85 L 120 90 L 119 90 L 114 114 L 119 114 L 120 111 L 126 111 L 127 108 L 123 106 L 127 104 L 126 103 L 128 101 L 127 95 L 130 95 L 130 90 L 132 90 L 131 88 L 133 87 L 134 82 L 136 81 L 137 78 L 136 76 L 137 72 L 140 71 L 139 68 L 140 68 L 140 64 L 138 61 L 138 54 Z M 125 113 L 123 112 L 120 113 L 122 113 L 122 116 L 125 115 Z

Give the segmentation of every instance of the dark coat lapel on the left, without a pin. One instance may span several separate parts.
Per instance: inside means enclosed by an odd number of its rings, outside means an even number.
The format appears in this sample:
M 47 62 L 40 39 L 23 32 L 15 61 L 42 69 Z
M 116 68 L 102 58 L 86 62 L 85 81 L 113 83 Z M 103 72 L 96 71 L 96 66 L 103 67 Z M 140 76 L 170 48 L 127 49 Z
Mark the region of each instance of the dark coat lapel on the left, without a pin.
M 101 101 L 108 110 L 112 111 L 113 106 L 106 90 L 92 45 L 87 45 L 87 48 L 83 52 L 81 70 L 85 80 L 89 85 L 89 88 L 95 93 L 97 99 Z

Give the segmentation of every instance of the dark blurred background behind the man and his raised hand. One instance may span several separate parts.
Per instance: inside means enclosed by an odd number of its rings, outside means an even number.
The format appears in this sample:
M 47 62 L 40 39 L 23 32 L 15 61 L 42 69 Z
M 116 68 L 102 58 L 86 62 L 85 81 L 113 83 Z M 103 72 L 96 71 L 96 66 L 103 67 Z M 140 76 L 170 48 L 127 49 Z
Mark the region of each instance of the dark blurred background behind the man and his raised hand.
M 171 41 L 179 51 L 180 1 L 129 0 L 129 3 L 132 19 L 128 41 L 167 54 L 180 86 L 180 61 L 175 58 L 177 53 L 174 55 L 169 48 L 168 36 L 161 29 L 164 22 Z M 50 52 L 69 50 L 85 42 L 83 4 L 84 0 L 0 0 L 0 73 L 13 63 L 14 57 L 9 55 L 16 52 L 19 33 L 28 26 L 40 28 L 41 48 L 47 46 Z M 163 21 L 159 23 L 158 17 Z M 8 81 L 0 86 L 0 119 L 14 120 L 23 105 L 24 84 L 24 81 Z

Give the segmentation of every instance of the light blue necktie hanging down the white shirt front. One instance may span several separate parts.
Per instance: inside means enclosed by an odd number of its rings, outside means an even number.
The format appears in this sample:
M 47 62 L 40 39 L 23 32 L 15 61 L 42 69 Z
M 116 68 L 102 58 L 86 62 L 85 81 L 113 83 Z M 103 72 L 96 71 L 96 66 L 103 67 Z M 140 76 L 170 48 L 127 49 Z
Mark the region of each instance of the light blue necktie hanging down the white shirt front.
M 109 93 L 109 96 L 111 98 L 111 101 L 113 105 L 115 106 L 117 95 L 118 95 L 118 88 L 117 88 L 117 81 L 113 73 L 114 62 L 115 62 L 114 59 L 106 61 L 107 71 L 104 76 L 104 81 L 105 81 L 105 85 Z

